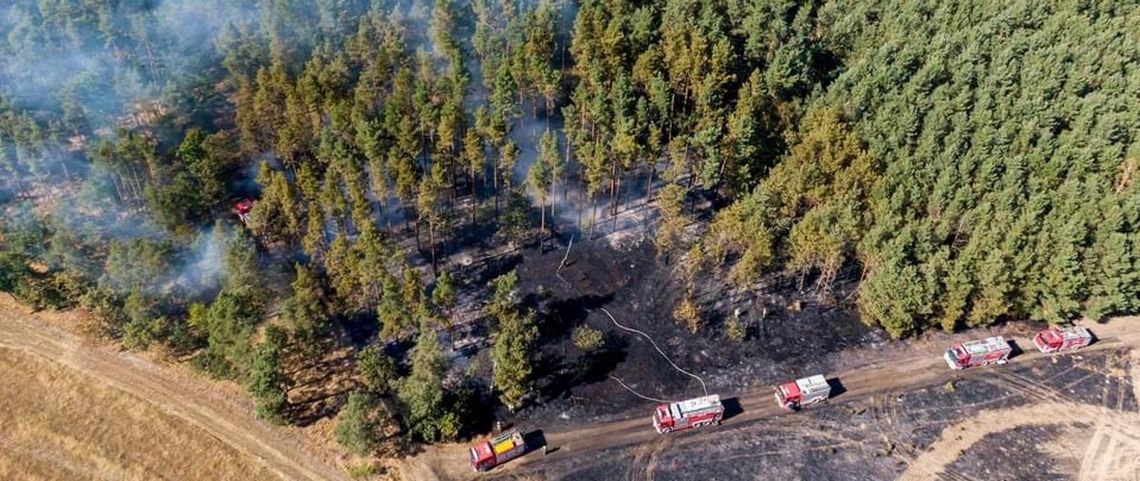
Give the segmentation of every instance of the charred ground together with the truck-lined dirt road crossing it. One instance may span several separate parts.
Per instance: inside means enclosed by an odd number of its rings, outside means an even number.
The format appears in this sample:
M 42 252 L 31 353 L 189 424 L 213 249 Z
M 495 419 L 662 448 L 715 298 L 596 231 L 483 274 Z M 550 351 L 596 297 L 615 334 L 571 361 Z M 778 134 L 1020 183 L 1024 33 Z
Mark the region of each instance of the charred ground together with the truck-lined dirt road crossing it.
M 1058 356 L 1033 348 L 1029 337 L 1041 326 L 1032 323 L 888 342 L 844 303 L 853 283 L 815 295 L 787 278 L 752 292 L 699 279 L 702 305 L 742 312 L 749 337 L 733 343 L 719 319 L 690 334 L 671 318 L 684 288 L 651 246 L 576 244 L 559 270 L 564 255 L 563 244 L 520 252 L 511 262 L 524 294 L 547 299 L 536 364 L 546 381 L 535 406 L 498 413 L 539 446 L 556 449 L 530 453 L 491 478 L 1138 479 L 1140 362 L 1132 352 L 1140 349 L 1140 318 L 1089 323 L 1098 342 Z M 657 434 L 650 423 L 654 402 L 610 377 L 674 400 L 702 394 L 701 384 L 676 372 L 644 339 L 616 328 L 602 308 L 646 332 L 674 362 L 719 393 L 728 408 L 724 424 Z M 578 353 L 569 332 L 579 324 L 605 332 L 609 348 Z M 1007 366 L 962 373 L 942 359 L 953 342 L 996 334 L 1028 350 Z M 817 373 L 840 388 L 831 401 L 799 414 L 776 406 L 771 385 Z M 465 450 L 465 443 L 426 448 L 407 459 L 405 473 L 425 481 L 473 479 Z

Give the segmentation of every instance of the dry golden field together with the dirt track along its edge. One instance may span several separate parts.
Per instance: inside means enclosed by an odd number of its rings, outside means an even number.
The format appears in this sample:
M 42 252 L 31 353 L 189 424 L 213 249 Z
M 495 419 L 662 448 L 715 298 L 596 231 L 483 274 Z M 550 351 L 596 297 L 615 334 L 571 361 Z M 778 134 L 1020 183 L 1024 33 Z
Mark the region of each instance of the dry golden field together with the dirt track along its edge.
M 238 386 L 84 341 L 68 316 L 0 296 L 0 479 L 348 479 L 299 429 L 255 419 Z

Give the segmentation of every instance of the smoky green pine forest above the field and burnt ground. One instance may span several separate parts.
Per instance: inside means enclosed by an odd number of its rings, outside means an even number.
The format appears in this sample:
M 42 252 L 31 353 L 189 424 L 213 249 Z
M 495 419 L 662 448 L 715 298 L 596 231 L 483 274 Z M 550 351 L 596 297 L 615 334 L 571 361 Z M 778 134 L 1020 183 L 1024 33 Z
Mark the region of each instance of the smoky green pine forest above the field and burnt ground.
M 457 244 L 593 237 L 628 191 L 691 286 L 788 270 L 825 293 L 855 267 L 864 320 L 896 336 L 1140 307 L 1129 2 L 227 3 L 187 3 L 238 19 L 206 36 L 145 5 L 0 8 L 0 291 L 193 357 L 276 422 L 290 369 L 339 320 L 374 318 L 336 430 L 358 453 L 391 413 L 425 441 L 465 429 L 478 396 L 437 334 Z M 98 62 L 17 73 L 64 54 Z M 127 125 L 140 93 L 166 111 Z M 247 230 L 213 223 L 254 194 Z M 694 239 L 708 197 L 724 207 Z M 512 409 L 539 341 L 516 283 L 467 287 L 486 291 Z M 692 296 L 674 316 L 701 326 Z

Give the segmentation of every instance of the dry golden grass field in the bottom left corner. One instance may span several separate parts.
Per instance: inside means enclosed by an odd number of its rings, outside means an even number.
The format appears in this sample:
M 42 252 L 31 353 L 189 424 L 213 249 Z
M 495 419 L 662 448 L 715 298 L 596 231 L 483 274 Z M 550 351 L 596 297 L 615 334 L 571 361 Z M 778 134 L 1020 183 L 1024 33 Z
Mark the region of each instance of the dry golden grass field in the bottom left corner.
M 141 399 L 0 348 L 0 480 L 279 480 Z

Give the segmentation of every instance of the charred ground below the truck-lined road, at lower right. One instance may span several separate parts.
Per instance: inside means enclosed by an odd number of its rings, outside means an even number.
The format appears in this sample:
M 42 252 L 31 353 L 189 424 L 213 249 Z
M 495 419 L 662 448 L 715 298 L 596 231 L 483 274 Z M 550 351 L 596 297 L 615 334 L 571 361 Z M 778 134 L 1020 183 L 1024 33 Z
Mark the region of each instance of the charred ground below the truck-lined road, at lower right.
M 1134 413 L 1131 382 L 1106 372 L 1123 352 L 1003 366 L 1000 369 L 1005 372 L 1000 375 L 961 378 L 953 389 L 931 386 L 862 402 L 841 402 L 840 397 L 793 415 L 612 449 L 585 466 L 580 460 L 544 459 L 537 476 L 520 479 L 898 479 L 907 466 L 927 456 L 939 438 L 969 435 L 964 427 L 959 434 L 954 426 L 982 410 L 1015 413 L 1035 403 L 1072 401 Z M 999 427 L 950 454 L 952 463 L 937 479 L 1074 479 L 1084 445 L 1066 445 L 1065 437 L 1089 431 L 1096 421 L 1059 416 L 1056 423 Z M 1057 447 L 1051 448 L 1053 445 Z M 1057 450 L 1075 451 L 1074 459 L 1058 456 Z

